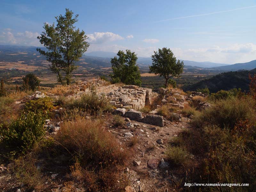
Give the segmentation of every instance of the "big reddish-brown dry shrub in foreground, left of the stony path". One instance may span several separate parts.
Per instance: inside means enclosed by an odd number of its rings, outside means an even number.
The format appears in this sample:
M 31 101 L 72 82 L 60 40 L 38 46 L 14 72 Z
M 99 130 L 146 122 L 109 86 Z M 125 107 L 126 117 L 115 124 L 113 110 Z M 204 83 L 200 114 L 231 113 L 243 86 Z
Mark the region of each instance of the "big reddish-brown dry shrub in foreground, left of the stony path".
M 86 188 L 91 191 L 119 191 L 123 187 L 116 180 L 121 177 L 130 151 L 124 146 L 121 148 L 101 121 L 78 118 L 64 122 L 56 141 L 72 154 L 72 159 L 76 159 L 71 166 L 72 176 L 83 181 Z

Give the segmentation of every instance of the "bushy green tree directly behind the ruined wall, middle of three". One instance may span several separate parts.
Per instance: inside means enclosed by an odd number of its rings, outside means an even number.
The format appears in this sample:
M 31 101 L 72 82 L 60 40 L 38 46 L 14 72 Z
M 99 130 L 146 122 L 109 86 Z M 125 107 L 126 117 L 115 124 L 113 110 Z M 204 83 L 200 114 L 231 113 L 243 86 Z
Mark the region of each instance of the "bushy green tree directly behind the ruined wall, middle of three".
M 141 85 L 140 70 L 136 61 L 138 57 L 135 52 L 131 50 L 119 50 L 117 53 L 118 58 L 115 56 L 111 59 L 113 74 L 111 74 L 112 82 L 122 82 L 125 84 Z

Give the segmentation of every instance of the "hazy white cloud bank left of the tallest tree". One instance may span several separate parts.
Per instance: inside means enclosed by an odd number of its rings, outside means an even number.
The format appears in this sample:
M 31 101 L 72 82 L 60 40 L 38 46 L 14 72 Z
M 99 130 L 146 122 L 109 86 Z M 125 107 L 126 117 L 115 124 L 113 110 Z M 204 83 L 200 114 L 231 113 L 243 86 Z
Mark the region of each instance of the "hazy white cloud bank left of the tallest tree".
M 1 44 L 17 44 L 17 45 L 28 45 L 28 46 L 41 46 L 37 36 L 40 34 L 37 32 L 25 31 L 24 33 L 12 33 L 10 32 L 2 32 L 0 36 Z

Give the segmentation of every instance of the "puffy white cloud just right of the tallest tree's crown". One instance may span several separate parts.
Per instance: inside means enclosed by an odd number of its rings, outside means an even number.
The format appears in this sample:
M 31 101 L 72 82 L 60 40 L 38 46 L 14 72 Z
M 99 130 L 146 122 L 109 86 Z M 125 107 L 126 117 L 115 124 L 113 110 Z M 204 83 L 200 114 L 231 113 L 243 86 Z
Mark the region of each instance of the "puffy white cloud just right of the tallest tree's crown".
M 87 36 L 88 41 L 95 44 L 124 39 L 122 36 L 112 32 L 95 32 L 93 34 L 88 34 Z

